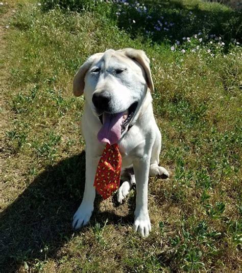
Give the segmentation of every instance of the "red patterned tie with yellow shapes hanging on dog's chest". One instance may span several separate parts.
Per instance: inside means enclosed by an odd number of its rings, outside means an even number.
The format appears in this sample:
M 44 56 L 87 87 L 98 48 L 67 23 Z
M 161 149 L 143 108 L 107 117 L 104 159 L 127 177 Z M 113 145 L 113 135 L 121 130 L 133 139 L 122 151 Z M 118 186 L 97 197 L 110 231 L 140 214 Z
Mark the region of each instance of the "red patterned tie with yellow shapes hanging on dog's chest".
M 96 191 L 107 199 L 119 187 L 122 167 L 122 156 L 119 153 L 117 143 L 106 144 L 99 160 L 94 179 Z

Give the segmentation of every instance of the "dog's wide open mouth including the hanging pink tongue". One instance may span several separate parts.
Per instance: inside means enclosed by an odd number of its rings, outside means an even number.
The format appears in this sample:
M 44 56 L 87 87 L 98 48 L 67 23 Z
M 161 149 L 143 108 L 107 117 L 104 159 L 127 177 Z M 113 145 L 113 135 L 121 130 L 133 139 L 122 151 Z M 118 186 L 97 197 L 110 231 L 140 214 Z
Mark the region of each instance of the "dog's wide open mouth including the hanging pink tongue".
M 103 113 L 99 116 L 102 128 L 98 133 L 98 140 L 103 143 L 114 144 L 127 131 L 135 110 L 138 106 L 138 102 L 134 102 L 131 106 L 122 113 L 110 114 Z

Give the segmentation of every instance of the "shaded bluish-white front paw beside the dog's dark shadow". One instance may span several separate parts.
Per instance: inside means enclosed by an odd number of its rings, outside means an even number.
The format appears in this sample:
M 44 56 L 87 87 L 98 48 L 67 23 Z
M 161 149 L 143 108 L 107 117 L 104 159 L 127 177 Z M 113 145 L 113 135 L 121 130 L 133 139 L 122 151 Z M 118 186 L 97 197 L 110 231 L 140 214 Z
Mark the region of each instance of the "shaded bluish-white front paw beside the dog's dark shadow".
M 81 204 L 73 216 L 72 228 L 77 230 L 82 226 L 88 224 L 93 211 L 92 206 Z

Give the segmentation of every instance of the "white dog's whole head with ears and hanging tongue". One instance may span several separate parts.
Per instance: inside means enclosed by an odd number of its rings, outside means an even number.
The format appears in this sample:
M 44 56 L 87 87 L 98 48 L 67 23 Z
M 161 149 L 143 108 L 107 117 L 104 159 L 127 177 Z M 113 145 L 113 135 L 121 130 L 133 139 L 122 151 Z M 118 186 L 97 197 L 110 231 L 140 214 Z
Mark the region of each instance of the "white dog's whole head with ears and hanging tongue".
M 90 56 L 73 83 L 75 96 L 84 93 L 103 123 L 101 142 L 113 144 L 128 130 L 148 89 L 154 90 L 150 60 L 142 50 L 107 50 Z

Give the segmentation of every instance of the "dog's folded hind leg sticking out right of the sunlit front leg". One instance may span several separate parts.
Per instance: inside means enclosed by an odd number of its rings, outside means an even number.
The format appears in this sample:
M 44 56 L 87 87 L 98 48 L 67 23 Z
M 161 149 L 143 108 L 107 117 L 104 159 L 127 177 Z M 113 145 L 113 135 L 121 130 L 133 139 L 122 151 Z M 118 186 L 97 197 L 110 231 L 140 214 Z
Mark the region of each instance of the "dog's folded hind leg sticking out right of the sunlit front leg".
M 159 155 L 161 150 L 161 133 L 157 127 L 156 139 L 152 147 L 150 176 L 158 176 L 159 178 L 166 179 L 169 177 L 168 172 L 164 167 L 159 166 Z

